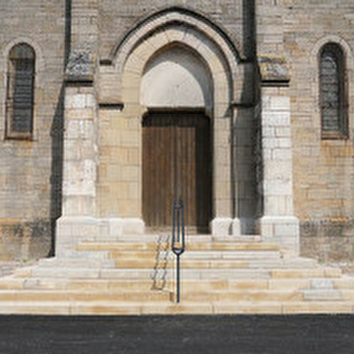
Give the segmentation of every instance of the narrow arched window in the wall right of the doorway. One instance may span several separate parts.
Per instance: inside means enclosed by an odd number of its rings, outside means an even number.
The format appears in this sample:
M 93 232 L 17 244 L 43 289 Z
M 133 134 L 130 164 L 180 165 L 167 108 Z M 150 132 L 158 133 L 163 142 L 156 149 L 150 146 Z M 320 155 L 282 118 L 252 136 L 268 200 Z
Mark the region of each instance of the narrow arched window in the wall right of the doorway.
M 348 135 L 344 54 L 335 43 L 325 44 L 320 56 L 321 132 L 323 138 Z

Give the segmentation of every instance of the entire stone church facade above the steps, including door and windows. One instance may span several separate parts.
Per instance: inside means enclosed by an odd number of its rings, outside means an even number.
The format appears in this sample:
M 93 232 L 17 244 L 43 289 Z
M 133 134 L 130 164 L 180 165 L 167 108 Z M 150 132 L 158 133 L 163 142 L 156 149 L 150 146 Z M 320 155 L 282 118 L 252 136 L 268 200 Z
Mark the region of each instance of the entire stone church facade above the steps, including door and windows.
M 351 261 L 352 0 L 0 2 L 0 258 L 157 232 Z

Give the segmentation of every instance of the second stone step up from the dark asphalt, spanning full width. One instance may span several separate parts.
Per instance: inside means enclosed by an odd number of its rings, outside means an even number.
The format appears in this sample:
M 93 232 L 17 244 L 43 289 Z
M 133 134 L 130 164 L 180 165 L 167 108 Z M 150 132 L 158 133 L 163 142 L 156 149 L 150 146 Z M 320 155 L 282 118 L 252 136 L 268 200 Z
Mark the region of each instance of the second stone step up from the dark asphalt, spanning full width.
M 189 302 L 242 302 L 242 301 L 340 301 L 343 298 L 347 301 L 354 302 L 354 290 L 346 290 L 339 292 L 338 290 L 213 290 L 207 291 L 185 289 L 182 286 L 182 300 Z M 107 301 L 107 302 L 153 302 L 153 301 L 173 301 L 175 299 L 174 292 L 168 290 L 127 290 L 127 289 L 111 289 L 110 291 L 98 291 L 90 289 L 89 291 L 79 290 L 47 290 L 42 289 L 28 290 L 3 290 L 0 292 L 1 302 L 52 302 L 52 301 Z

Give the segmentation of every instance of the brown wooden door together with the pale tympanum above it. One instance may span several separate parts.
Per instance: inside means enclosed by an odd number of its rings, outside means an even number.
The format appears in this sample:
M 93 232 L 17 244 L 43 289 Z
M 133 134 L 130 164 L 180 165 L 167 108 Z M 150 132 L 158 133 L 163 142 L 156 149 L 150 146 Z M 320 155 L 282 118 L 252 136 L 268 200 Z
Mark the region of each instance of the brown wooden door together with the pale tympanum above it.
M 212 79 L 191 49 L 166 46 L 147 63 L 143 119 L 143 218 L 146 227 L 172 225 L 173 200 L 183 200 L 188 231 L 207 232 L 211 221 Z

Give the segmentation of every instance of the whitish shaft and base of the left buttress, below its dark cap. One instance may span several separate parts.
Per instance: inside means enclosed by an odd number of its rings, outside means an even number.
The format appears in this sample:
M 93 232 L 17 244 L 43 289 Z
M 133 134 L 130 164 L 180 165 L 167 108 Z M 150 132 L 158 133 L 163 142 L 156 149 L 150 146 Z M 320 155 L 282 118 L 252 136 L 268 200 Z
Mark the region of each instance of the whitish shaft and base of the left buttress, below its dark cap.
M 58 256 L 66 253 L 79 238 L 93 237 L 97 232 L 96 112 L 92 86 L 66 88 L 62 216 L 56 238 Z

